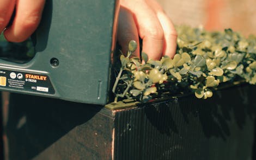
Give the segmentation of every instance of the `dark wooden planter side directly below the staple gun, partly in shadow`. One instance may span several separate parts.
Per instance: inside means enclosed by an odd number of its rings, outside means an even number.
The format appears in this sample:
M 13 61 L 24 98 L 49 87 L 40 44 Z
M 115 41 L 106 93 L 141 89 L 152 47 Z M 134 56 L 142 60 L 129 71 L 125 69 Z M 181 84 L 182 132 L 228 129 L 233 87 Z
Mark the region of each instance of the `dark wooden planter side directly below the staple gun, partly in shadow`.
M 5 126 L 5 158 L 109 159 L 113 118 L 105 110 L 96 105 L 12 93 Z

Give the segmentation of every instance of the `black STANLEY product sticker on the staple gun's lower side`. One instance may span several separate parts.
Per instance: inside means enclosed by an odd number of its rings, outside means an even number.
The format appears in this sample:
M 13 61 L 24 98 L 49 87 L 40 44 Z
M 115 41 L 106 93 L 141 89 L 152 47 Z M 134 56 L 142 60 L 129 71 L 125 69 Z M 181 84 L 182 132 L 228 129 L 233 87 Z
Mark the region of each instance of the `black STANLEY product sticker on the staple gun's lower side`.
M 0 88 L 54 94 L 55 91 L 47 75 L 0 70 Z

